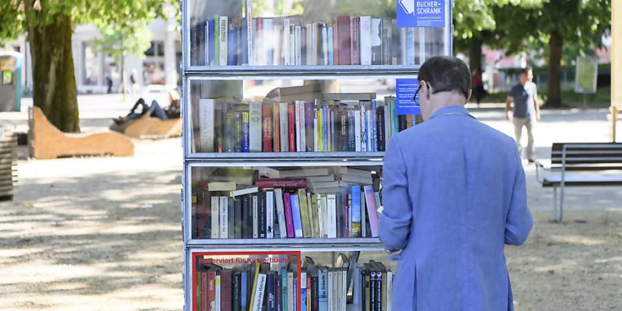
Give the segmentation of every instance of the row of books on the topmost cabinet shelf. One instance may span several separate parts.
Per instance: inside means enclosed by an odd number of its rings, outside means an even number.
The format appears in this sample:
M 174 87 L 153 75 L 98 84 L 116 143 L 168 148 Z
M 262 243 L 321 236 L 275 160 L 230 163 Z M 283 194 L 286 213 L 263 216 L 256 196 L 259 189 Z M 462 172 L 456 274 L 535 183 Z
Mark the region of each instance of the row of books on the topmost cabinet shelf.
M 443 28 L 397 28 L 397 20 L 339 16 L 195 19 L 193 66 L 416 65 L 444 55 Z

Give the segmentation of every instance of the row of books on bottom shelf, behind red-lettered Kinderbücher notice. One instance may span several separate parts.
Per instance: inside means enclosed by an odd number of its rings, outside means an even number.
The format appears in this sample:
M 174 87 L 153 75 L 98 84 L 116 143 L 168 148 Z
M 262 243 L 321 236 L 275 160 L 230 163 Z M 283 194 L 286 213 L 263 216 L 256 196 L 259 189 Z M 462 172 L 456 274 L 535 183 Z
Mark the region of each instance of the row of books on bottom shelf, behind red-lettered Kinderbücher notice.
M 330 268 L 306 257 L 299 275 L 296 263 L 257 262 L 223 268 L 200 263 L 205 262 L 201 259 L 195 274 L 197 311 L 392 310 L 393 272 L 376 261 L 362 266 L 345 262 Z

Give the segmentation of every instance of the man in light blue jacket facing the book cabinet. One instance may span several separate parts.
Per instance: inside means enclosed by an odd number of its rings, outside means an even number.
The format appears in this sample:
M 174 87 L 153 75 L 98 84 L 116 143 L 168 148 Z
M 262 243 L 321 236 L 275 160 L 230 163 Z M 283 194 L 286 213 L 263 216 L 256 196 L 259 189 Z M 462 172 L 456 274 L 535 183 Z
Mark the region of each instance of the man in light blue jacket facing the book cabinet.
M 513 310 L 504 247 L 533 220 L 516 142 L 475 120 L 468 66 L 420 69 L 422 124 L 391 138 L 379 236 L 399 263 L 393 310 Z

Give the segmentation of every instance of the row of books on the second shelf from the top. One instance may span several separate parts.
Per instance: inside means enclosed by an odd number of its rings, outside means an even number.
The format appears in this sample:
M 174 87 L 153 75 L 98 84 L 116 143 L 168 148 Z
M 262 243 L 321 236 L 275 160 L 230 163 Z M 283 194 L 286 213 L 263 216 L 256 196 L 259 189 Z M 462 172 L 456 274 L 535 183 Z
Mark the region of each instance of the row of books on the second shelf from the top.
M 376 100 L 232 103 L 198 101 L 200 152 L 385 151 L 392 135 L 417 124 L 397 115 L 395 97 Z

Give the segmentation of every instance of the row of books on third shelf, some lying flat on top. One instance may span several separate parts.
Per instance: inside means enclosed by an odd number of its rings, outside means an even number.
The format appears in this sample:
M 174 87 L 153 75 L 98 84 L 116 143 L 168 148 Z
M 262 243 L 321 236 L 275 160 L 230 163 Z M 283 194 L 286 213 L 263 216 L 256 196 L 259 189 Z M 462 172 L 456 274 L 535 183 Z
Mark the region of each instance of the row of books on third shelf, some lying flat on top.
M 243 189 L 235 182 L 199 183 L 193 238 L 378 236 L 381 198 L 371 171 L 263 168 L 261 175 L 277 178 L 259 178 Z

